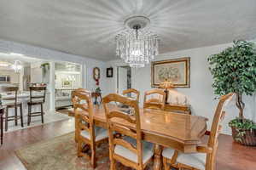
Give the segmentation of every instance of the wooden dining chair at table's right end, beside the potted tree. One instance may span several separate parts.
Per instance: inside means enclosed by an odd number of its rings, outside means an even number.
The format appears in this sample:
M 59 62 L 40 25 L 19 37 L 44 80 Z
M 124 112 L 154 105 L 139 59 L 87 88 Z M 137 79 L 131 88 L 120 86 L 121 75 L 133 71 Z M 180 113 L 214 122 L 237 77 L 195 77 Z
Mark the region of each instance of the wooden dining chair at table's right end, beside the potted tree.
M 197 152 L 184 154 L 170 148 L 163 150 L 162 156 L 165 170 L 169 170 L 170 165 L 179 169 L 214 170 L 215 157 L 218 148 L 218 134 L 222 129 L 221 122 L 225 115 L 224 106 L 228 105 L 233 95 L 234 94 L 226 94 L 219 99 L 212 121 L 211 132 L 206 133 L 209 135 L 208 143 L 198 145 L 196 148 Z

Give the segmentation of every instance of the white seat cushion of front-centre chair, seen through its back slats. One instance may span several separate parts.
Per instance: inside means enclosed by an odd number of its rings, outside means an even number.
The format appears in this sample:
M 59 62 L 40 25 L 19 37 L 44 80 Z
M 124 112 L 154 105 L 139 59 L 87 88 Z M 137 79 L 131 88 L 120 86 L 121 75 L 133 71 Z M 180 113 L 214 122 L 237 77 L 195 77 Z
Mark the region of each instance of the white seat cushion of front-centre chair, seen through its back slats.
M 124 137 L 124 139 L 133 144 L 133 146 L 137 147 L 136 139 L 132 139 L 130 137 Z M 119 144 L 116 144 L 114 153 L 137 163 L 137 154 Z M 147 162 L 152 156 L 154 156 L 154 144 L 143 141 L 143 163 Z

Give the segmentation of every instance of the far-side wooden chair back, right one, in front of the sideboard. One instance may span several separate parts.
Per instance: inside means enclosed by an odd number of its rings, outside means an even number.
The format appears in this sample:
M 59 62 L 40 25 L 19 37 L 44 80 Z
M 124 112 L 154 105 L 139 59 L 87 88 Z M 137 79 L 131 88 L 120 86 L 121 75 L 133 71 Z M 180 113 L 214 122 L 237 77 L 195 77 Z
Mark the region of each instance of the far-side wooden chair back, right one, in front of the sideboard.
M 148 97 L 151 97 L 148 99 Z M 144 94 L 143 108 L 164 110 L 166 104 L 166 93 L 162 89 L 148 90 Z

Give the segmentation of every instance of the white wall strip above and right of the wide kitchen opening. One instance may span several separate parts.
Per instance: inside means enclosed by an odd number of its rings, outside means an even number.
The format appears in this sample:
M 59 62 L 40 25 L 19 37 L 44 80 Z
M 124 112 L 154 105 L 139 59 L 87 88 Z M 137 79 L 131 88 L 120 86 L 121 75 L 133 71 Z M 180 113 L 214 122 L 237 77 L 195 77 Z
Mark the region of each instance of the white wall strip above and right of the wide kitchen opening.
M 47 61 L 68 61 L 83 65 L 83 71 L 85 73 L 83 72 L 82 76 L 86 77 L 84 80 L 87 81 L 82 82 L 82 84 L 84 85 L 84 88 L 88 89 L 95 88 L 96 82 L 93 80 L 92 70 L 97 66 L 101 69 L 100 87 L 102 88 L 102 93 L 105 94 L 107 91 L 105 82 L 106 67 L 104 65 L 105 62 L 103 61 L 5 40 L 0 40 L 0 53 L 24 54 L 28 57 L 45 59 Z M 84 65 L 86 66 L 84 67 Z

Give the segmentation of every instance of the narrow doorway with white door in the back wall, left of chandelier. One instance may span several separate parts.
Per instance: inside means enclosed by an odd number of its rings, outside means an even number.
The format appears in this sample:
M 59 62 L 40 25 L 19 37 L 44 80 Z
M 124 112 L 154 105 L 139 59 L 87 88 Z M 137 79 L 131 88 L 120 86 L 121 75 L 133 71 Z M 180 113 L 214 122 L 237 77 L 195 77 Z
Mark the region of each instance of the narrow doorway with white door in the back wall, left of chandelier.
M 131 88 L 131 67 L 118 66 L 117 68 L 117 92 L 122 94 L 124 90 Z

